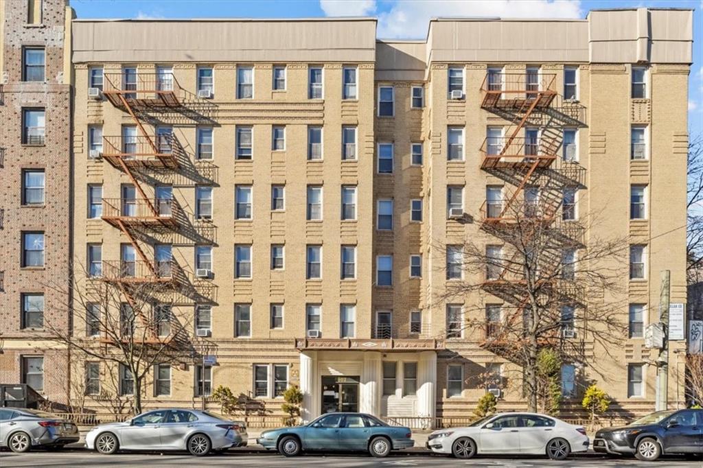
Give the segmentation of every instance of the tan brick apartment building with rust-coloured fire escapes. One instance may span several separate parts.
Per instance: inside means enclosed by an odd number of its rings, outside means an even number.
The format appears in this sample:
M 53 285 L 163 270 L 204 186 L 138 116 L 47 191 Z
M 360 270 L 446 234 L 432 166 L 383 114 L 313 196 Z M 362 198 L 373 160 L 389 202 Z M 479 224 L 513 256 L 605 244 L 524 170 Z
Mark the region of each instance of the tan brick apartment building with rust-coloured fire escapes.
M 540 161 L 535 174 L 581 174 L 555 222 L 598 212 L 584 245 L 633 246 L 633 279 L 607 298 L 630 332 L 608 352 L 561 335 L 586 349 L 562 370 L 567 401 L 593 381 L 624 410 L 653 408 L 641 328 L 657 320 L 660 270 L 685 302 L 685 229 L 673 228 L 685 225 L 691 11 L 437 19 L 425 41 L 377 41 L 368 18 L 74 20 L 72 38 L 75 259 L 93 281 L 119 285 L 127 266 L 131 281 L 190 285 L 174 316 L 217 345 L 204 372 L 155 369 L 148 405 L 200 405 L 203 385 L 223 384 L 275 409 L 298 384 L 306 420 L 468 415 L 489 373 L 501 408 L 522 408 L 520 370 L 463 326 L 484 305 L 503 320 L 503 301 L 446 299 L 445 246 L 499 247 L 490 205 L 531 196 L 520 168 Z M 671 369 L 669 399 L 683 401 L 683 365 Z

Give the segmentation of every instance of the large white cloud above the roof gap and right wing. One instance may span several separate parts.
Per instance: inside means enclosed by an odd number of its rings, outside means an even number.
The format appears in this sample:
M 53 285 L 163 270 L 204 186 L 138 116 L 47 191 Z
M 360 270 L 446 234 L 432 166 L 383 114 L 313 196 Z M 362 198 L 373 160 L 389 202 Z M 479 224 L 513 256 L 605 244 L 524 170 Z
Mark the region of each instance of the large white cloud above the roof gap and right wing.
M 430 18 L 437 16 L 583 18 L 583 12 L 580 0 L 396 1 L 378 15 L 378 37 L 424 39 Z

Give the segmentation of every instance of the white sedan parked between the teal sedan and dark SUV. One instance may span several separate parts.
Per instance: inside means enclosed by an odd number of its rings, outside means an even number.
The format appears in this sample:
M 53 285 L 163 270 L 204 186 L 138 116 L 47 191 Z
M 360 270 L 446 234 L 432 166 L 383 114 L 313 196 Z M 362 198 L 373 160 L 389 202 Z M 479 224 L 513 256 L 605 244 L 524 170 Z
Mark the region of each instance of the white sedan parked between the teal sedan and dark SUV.
M 547 455 L 564 460 L 588 450 L 586 429 L 555 417 L 530 412 L 504 412 L 467 427 L 440 429 L 427 439 L 435 453 L 471 458 L 474 455 Z

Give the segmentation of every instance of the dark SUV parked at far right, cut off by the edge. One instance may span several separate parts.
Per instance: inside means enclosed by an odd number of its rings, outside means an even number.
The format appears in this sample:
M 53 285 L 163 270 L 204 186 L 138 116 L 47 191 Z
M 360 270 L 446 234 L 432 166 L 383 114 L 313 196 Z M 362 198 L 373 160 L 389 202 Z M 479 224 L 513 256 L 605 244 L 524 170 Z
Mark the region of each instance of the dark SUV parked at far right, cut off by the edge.
M 703 410 L 657 411 L 625 427 L 600 429 L 593 450 L 653 461 L 662 453 L 703 456 Z

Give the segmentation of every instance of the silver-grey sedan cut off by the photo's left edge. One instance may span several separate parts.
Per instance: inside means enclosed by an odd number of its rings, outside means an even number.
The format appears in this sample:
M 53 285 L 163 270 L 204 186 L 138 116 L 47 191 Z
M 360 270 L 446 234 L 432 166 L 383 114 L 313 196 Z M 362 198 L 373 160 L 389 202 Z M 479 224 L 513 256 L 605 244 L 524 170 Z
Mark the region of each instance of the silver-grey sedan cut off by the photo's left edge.
M 26 452 L 32 447 L 63 448 L 80 438 L 73 422 L 49 412 L 27 408 L 0 408 L 0 447 Z

